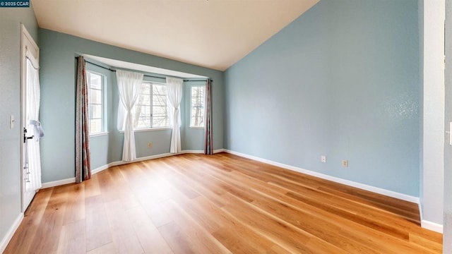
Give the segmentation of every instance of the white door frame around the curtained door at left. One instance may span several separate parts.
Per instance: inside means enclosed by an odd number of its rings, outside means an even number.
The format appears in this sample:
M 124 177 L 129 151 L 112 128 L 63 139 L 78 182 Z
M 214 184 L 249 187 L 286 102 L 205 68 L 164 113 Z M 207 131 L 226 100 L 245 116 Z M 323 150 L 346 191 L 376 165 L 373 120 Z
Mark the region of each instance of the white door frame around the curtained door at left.
M 26 115 L 25 115 L 25 99 L 26 99 L 26 64 L 25 61 L 27 50 L 32 54 L 32 56 L 37 59 L 39 62 L 40 59 L 40 48 L 37 47 L 35 40 L 28 32 L 27 28 L 23 23 L 20 23 L 20 210 L 21 212 L 25 212 L 27 210 L 28 205 L 25 205 L 25 176 L 23 174 L 24 167 L 24 157 L 25 153 L 23 152 L 23 128 L 26 126 Z

